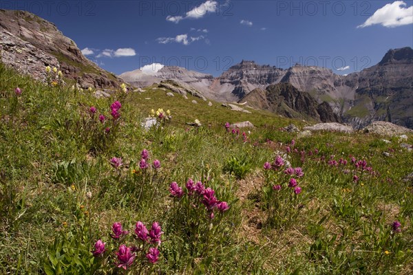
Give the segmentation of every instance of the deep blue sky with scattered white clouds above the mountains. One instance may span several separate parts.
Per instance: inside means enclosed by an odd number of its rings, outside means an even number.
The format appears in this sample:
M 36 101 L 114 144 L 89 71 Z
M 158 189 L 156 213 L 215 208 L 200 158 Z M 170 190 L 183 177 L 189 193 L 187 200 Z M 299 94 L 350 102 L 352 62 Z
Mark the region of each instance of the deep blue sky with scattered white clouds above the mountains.
M 0 8 L 52 21 L 115 74 L 161 63 L 218 76 L 242 59 L 349 74 L 377 64 L 390 48 L 413 47 L 412 0 L 13 0 Z

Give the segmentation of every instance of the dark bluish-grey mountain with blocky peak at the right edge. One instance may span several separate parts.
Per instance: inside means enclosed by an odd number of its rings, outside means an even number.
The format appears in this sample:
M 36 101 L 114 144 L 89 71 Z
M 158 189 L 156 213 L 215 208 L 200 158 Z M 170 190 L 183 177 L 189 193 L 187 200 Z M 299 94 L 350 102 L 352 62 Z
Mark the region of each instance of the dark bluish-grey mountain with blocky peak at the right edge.
M 385 120 L 413 129 L 413 49 L 390 50 L 377 65 L 347 77 L 352 79 L 354 104 L 346 120 L 359 128 Z

